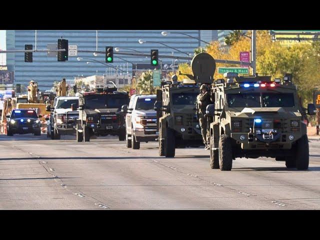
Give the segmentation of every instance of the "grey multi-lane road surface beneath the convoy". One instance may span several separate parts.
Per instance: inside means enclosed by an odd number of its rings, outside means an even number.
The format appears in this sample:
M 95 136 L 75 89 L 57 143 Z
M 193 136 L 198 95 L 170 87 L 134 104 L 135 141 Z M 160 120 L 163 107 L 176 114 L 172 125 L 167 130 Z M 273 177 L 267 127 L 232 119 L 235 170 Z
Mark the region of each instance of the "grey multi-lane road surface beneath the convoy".
M 320 209 L 320 138 L 309 141 L 308 170 L 237 158 L 220 171 L 204 148 L 165 158 L 156 142 L 0 135 L 0 209 Z

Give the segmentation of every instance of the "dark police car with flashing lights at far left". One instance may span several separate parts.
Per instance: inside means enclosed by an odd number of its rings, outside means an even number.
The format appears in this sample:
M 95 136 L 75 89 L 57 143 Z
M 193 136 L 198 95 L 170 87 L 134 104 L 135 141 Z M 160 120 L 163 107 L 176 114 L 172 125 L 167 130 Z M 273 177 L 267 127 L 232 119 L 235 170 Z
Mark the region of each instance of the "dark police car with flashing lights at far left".
M 33 133 L 34 135 L 41 134 L 41 121 L 35 110 L 33 109 L 14 109 L 6 123 L 7 136 L 13 134 Z

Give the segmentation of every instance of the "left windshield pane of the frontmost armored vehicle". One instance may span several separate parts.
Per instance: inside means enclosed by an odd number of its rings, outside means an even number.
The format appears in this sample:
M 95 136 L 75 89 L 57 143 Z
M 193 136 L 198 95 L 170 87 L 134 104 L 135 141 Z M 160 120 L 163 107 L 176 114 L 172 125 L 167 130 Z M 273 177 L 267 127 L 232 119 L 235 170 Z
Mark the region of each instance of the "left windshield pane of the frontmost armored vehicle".
M 259 93 L 227 94 L 229 107 L 261 107 Z

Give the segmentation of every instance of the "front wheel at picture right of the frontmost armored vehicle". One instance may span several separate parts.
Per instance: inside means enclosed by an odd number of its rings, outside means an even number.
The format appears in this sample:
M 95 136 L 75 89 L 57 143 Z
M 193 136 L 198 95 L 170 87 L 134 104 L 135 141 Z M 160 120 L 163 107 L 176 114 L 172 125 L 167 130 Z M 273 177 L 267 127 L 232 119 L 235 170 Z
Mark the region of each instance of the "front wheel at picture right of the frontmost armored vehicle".
M 295 162 L 298 170 L 306 170 L 309 167 L 309 142 L 307 135 L 303 135 L 296 141 Z

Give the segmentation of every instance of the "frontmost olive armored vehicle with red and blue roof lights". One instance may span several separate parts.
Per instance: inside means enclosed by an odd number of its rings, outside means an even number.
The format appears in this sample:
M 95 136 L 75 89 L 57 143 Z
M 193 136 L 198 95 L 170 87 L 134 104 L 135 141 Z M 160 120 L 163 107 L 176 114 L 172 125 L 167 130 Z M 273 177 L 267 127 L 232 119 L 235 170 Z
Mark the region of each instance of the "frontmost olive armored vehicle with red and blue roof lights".
M 204 53 L 205 54 L 205 53 Z M 211 84 L 214 104 L 206 107 L 210 118 L 210 167 L 231 170 L 236 157 L 273 157 L 288 168 L 307 169 L 309 164 L 305 114 L 296 87 L 288 75 L 237 76 Z M 306 112 L 307 110 L 307 112 Z

